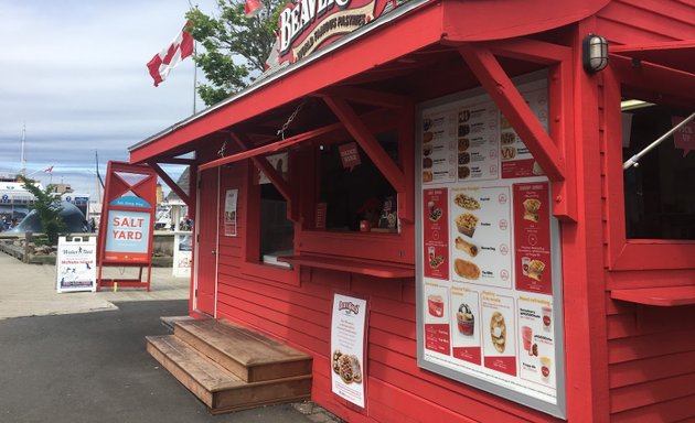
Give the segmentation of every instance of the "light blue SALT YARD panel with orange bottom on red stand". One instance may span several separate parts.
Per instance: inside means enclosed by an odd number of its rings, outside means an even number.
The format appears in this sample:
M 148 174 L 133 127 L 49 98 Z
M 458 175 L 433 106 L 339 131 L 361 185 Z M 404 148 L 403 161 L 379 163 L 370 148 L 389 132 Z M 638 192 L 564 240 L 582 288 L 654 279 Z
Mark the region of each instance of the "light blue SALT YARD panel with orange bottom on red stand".
M 104 258 L 110 262 L 147 263 L 150 212 L 108 210 Z

